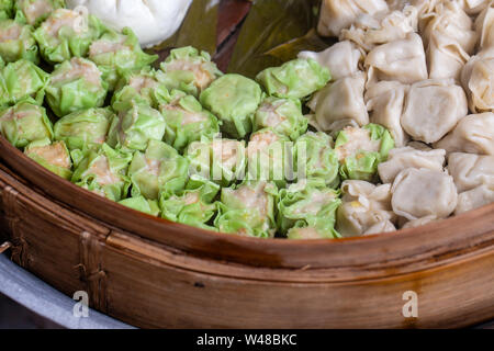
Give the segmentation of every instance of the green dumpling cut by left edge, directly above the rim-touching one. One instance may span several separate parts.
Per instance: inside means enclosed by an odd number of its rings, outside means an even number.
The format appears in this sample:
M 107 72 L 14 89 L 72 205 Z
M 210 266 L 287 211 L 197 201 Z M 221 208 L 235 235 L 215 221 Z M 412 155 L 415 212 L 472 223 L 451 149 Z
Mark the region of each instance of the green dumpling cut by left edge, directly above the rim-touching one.
M 8 64 L 0 77 L 0 105 L 15 104 L 27 98 L 43 103 L 49 75 L 26 59 Z

